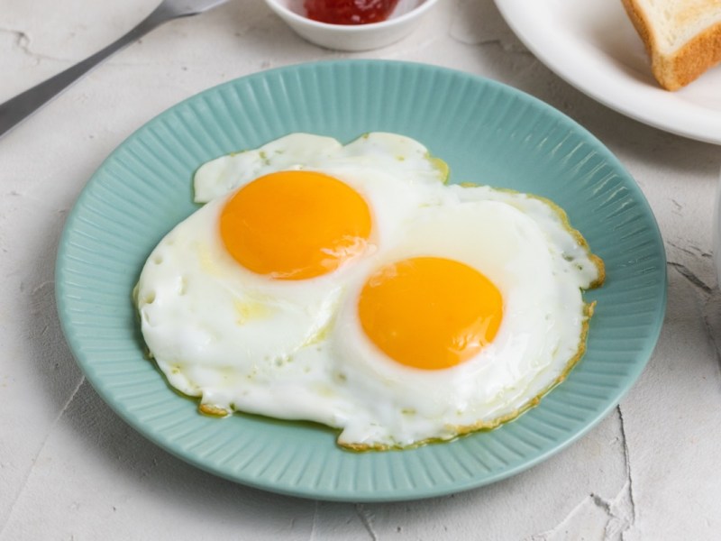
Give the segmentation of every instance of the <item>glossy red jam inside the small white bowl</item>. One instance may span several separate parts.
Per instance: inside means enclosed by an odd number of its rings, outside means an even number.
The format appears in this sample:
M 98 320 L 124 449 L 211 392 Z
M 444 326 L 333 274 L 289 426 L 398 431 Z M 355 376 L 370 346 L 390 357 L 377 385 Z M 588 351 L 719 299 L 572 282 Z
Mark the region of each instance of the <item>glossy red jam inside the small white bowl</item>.
M 390 16 L 398 0 L 305 0 L 309 19 L 331 24 L 380 23 Z

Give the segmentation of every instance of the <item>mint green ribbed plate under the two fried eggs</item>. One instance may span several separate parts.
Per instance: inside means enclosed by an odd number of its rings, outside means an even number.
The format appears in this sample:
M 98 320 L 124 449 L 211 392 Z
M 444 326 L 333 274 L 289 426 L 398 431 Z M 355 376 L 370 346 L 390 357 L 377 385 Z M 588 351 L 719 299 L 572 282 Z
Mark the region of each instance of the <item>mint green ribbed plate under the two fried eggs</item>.
M 309 132 L 348 142 L 402 133 L 446 160 L 452 181 L 551 197 L 607 264 L 589 349 L 541 402 L 492 432 L 354 454 L 332 430 L 236 415 L 202 417 L 143 356 L 131 290 L 160 238 L 196 210 L 199 164 Z M 411 500 L 521 472 L 586 433 L 634 383 L 666 303 L 662 239 L 634 180 L 597 139 L 513 88 L 423 64 L 336 61 L 274 69 L 193 96 L 133 133 L 68 217 L 57 263 L 59 317 L 100 396 L 151 441 L 243 484 L 322 500 Z

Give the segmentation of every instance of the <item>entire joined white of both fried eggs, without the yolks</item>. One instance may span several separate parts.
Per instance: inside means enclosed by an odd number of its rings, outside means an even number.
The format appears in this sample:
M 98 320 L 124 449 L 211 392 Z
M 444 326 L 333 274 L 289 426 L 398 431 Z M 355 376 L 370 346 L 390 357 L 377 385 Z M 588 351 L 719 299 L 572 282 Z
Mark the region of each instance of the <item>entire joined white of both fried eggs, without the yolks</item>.
M 319 170 L 369 202 L 370 249 L 310 280 L 269 280 L 225 251 L 227 197 L 275 170 Z M 342 146 L 292 134 L 196 172 L 207 201 L 151 253 L 136 289 L 141 328 L 176 389 L 216 412 L 306 419 L 341 429 L 355 449 L 450 439 L 515 417 L 560 381 L 582 352 L 581 297 L 602 267 L 560 210 L 537 197 L 444 186 L 447 171 L 418 142 L 370 133 Z M 497 336 L 456 367 L 390 360 L 357 316 L 380 266 L 415 256 L 464 262 L 504 298 Z

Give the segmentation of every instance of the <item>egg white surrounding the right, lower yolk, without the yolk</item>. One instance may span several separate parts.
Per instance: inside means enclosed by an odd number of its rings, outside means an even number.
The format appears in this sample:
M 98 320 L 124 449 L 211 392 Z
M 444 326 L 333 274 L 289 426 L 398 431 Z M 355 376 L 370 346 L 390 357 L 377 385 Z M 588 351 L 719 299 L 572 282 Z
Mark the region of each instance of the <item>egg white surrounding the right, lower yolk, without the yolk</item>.
M 589 313 L 581 289 L 598 279 L 598 264 L 561 217 L 523 194 L 452 186 L 443 196 L 416 215 L 405 242 L 379 257 L 375 268 L 419 256 L 466 263 L 500 290 L 501 326 L 466 362 L 443 370 L 409 368 L 363 332 L 358 299 L 364 283 L 354 284 L 324 344 L 336 379 L 362 403 L 344 425 L 342 445 L 405 447 L 497 426 L 561 381 L 578 359 Z M 526 212 L 529 206 L 541 212 Z M 553 237 L 561 244 L 550 243 Z

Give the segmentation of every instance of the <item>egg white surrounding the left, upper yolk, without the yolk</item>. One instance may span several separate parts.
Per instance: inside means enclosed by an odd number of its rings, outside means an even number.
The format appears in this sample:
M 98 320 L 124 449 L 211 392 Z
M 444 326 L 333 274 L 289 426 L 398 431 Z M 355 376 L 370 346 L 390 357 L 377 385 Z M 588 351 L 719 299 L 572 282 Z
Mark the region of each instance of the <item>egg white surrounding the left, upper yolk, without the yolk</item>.
M 253 174 L 239 180 L 238 170 L 246 167 Z M 227 200 L 255 175 L 293 169 L 340 179 L 368 202 L 372 230 L 360 261 L 312 280 L 271 280 L 243 268 L 225 250 L 218 221 Z M 284 414 L 275 411 L 275 404 L 294 400 L 284 396 L 283 379 L 295 383 L 295 399 L 305 392 L 319 394 L 333 383 L 324 374 L 314 375 L 319 370 L 314 363 L 293 362 L 295 355 L 325 339 L 350 277 L 363 272 L 373 253 L 399 242 L 403 224 L 426 204 L 418 184 L 440 185 L 444 175 L 422 145 L 384 133 L 346 147 L 332 139 L 294 134 L 201 167 L 197 193 L 201 199 L 213 198 L 151 252 L 135 291 L 143 337 L 169 383 L 202 397 L 203 405 L 216 412 L 242 408 L 276 417 L 308 417 L 299 406 Z M 298 381 L 313 378 L 317 383 L 298 389 L 303 387 Z M 236 396 L 241 389 L 243 396 L 253 398 Z M 281 399 L 269 399 L 278 392 Z M 328 423 L 326 417 L 314 419 Z

